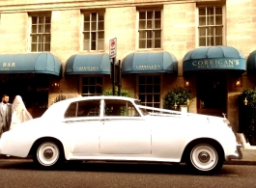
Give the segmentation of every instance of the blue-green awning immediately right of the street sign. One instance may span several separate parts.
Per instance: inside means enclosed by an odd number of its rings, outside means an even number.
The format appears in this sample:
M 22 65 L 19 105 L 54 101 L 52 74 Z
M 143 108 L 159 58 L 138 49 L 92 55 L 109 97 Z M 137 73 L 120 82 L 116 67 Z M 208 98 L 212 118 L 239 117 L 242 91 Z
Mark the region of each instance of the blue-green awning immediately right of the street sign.
M 168 52 L 131 53 L 122 63 L 122 73 L 177 73 L 178 61 Z

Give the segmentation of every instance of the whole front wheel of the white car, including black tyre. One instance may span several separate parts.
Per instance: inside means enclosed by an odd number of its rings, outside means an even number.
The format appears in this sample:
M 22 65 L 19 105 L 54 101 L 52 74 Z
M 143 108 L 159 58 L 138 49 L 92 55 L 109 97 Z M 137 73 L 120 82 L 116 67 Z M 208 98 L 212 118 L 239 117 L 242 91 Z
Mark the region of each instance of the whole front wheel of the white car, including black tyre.
M 222 167 L 223 155 L 214 144 L 196 144 L 188 148 L 186 164 L 197 173 L 212 175 Z

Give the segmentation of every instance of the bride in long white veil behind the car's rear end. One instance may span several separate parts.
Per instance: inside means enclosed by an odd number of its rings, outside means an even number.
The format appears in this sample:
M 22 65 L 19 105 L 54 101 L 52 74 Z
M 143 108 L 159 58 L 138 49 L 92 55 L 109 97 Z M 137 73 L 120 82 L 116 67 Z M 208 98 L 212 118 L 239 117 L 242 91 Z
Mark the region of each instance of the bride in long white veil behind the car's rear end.
M 33 118 L 27 111 L 21 96 L 16 95 L 14 98 L 14 103 L 12 105 L 12 121 L 10 129 L 13 129 L 17 123 L 29 121 L 31 119 Z

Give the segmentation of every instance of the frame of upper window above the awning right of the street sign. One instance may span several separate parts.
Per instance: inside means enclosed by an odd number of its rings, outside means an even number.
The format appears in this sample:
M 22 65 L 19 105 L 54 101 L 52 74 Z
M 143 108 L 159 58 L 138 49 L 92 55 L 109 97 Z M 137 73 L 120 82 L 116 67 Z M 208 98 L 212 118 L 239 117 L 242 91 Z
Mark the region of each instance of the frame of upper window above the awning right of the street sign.
M 139 14 L 141 13 L 141 12 L 160 12 L 160 28 L 158 29 L 156 29 L 155 28 L 155 25 L 154 25 L 154 28 L 153 29 L 147 29 L 147 28 L 145 28 L 145 29 L 140 29 L 139 27 L 139 25 L 140 25 L 140 17 L 139 17 Z M 163 32 L 163 13 L 162 13 L 162 8 L 159 8 L 159 7 L 156 7 L 156 8 L 148 8 L 148 9 L 141 9 L 141 8 L 138 8 L 137 9 L 137 16 L 136 16 L 137 18 L 136 18 L 136 30 L 137 30 L 137 40 L 136 40 L 136 49 L 139 49 L 139 50 L 151 50 L 151 49 L 162 49 L 162 39 L 163 39 L 163 36 L 162 36 L 162 32 Z M 154 19 L 150 19 L 150 20 L 152 20 L 153 22 L 154 22 L 154 20 L 155 20 L 155 17 L 154 17 Z M 151 47 L 140 47 L 140 31 L 142 31 L 142 30 L 145 30 L 145 31 L 152 31 L 153 33 L 155 32 L 155 31 L 160 31 L 160 41 L 159 41 L 159 47 L 154 47 L 154 45 L 155 45 L 155 43 L 156 43 L 156 38 L 155 37 L 153 37 L 152 38 L 152 44 L 151 44 Z M 152 34 L 152 36 L 153 36 L 153 34 Z M 147 40 L 148 38 L 146 38 L 145 40 Z M 146 45 L 146 44 L 145 44 Z

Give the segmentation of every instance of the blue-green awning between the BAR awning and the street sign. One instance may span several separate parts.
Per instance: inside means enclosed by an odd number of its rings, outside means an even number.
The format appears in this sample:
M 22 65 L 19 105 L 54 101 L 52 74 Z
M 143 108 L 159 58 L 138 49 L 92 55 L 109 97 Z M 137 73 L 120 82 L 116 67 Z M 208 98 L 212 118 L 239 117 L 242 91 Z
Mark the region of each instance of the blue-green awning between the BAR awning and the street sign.
M 65 74 L 110 74 L 109 55 L 106 53 L 72 55 L 66 64 Z

